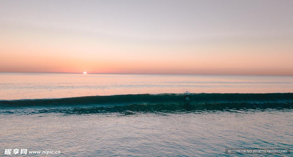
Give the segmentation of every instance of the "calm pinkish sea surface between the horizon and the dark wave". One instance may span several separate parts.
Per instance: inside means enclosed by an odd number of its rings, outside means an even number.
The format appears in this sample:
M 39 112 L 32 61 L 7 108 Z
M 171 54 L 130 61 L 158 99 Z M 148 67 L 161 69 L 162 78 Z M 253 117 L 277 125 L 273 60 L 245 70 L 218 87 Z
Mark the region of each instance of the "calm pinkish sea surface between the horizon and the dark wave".
M 293 76 L 144 75 L 0 72 L 0 99 L 116 94 L 287 93 Z

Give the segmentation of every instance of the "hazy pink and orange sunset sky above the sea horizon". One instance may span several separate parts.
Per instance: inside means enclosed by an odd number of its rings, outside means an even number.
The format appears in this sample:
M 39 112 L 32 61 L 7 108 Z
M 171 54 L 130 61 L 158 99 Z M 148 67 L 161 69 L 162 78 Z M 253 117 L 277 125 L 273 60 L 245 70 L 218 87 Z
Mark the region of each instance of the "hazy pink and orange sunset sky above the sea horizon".
M 0 0 L 0 72 L 293 75 L 292 0 Z

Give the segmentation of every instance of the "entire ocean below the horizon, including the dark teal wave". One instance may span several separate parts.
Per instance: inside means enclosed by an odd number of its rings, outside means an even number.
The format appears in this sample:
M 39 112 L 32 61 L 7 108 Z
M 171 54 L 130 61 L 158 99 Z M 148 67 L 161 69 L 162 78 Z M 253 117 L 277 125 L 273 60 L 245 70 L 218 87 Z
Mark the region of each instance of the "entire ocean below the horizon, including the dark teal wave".
M 293 76 L 0 73 L 0 156 L 292 156 L 225 151 L 292 151 L 292 117 Z

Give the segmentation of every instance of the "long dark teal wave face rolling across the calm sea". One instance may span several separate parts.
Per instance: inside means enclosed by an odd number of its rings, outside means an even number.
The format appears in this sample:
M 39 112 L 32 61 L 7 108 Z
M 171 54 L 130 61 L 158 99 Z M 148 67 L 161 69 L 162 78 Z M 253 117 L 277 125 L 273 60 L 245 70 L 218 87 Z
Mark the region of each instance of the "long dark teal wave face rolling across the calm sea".
M 96 105 L 96 104 L 292 104 L 293 93 L 199 93 L 189 94 L 126 94 L 110 96 L 86 96 L 55 99 L 0 100 L 0 107 Z

